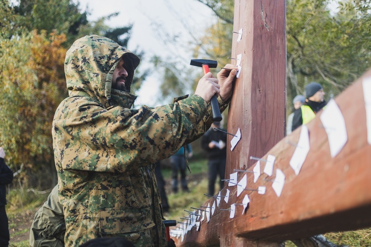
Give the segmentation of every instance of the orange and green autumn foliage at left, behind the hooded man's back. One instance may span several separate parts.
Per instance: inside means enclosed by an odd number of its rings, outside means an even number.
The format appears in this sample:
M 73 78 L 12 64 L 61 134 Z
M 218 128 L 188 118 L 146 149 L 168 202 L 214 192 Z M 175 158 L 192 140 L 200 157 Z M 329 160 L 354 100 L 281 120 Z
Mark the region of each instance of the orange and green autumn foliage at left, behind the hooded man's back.
M 65 41 L 65 35 L 45 31 L 17 41 L 0 39 L 0 144 L 14 171 L 21 164 L 28 169 L 22 179 L 30 185 L 49 186 L 50 180 L 32 175 L 55 169 L 50 128 L 56 107 L 67 96 Z

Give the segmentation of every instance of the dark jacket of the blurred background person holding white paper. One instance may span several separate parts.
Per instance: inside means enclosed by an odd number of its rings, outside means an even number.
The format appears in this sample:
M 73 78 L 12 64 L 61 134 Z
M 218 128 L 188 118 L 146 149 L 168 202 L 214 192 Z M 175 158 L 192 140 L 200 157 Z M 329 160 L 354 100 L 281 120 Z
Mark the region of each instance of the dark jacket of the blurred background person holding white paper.
M 225 129 L 222 129 L 225 130 Z M 209 160 L 219 160 L 219 159 L 226 159 L 227 157 L 227 146 L 225 146 L 222 150 L 215 147 L 209 148 L 209 143 L 211 141 L 219 142 L 222 140 L 224 143 L 227 143 L 227 134 L 210 128 L 203 136 L 201 140 L 202 148 L 207 152 L 207 158 Z

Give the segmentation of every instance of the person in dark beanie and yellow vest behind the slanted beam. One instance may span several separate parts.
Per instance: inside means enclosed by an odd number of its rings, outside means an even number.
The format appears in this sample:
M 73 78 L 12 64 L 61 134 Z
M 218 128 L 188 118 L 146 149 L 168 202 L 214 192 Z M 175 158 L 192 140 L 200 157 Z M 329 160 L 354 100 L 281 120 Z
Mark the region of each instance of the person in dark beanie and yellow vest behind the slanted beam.
M 305 103 L 294 112 L 292 131 L 316 117 L 316 114 L 327 104 L 324 96 L 324 88 L 320 83 L 311 82 L 305 86 Z

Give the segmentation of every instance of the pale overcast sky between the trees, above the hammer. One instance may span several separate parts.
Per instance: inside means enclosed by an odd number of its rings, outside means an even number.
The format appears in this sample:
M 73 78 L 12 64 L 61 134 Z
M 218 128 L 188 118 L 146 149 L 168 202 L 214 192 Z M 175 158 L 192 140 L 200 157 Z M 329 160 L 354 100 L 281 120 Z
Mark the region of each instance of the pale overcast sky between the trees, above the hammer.
M 117 17 L 106 23 L 108 26 L 122 27 L 133 24 L 127 48 L 144 50 L 145 59 L 153 55 L 163 57 L 174 55 L 184 57 L 185 62 L 189 64 L 191 59 L 189 51 L 185 51 L 181 44 L 176 50 L 175 46 L 165 45 L 160 35 L 163 34 L 162 30 L 166 30 L 170 35 L 181 35 L 182 41 L 186 43 L 189 41 L 189 35 L 185 25 L 189 28 L 188 30 L 200 33 L 215 19 L 212 11 L 197 0 L 79 0 L 79 2 L 83 10 L 88 7 L 91 13 L 88 16 L 90 21 L 119 12 Z M 141 66 L 146 67 L 150 64 L 148 61 L 142 61 Z M 137 92 L 139 96 L 136 101 L 137 106 L 160 104 L 154 102 L 155 95 L 158 93 L 159 80 L 159 75 L 154 73 L 143 83 Z

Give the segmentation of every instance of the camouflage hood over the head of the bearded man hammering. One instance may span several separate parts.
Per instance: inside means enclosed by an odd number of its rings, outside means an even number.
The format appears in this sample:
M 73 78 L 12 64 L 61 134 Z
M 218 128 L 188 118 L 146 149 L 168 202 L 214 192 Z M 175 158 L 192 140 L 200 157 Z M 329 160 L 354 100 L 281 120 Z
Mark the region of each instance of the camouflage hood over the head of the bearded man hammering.
M 131 104 L 136 96 L 119 90 L 112 90 L 112 74 L 121 57 L 128 66 L 128 82 L 132 83 L 134 70 L 140 59 L 116 42 L 97 35 L 85 36 L 75 41 L 66 53 L 64 71 L 69 96 L 89 94 L 105 107 L 126 97 Z M 112 94 L 112 95 L 111 95 Z M 112 97 L 113 96 L 113 97 Z M 130 102 L 128 102 L 130 104 Z

